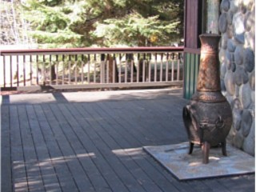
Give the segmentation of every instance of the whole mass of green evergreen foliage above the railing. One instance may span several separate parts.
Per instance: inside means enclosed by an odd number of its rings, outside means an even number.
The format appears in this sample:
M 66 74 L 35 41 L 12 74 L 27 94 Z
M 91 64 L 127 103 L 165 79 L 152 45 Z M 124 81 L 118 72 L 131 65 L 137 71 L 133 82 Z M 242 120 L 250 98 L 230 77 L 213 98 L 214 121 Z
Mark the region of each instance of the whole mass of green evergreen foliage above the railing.
M 170 45 L 183 34 L 183 1 L 27 0 L 22 7 L 41 46 Z

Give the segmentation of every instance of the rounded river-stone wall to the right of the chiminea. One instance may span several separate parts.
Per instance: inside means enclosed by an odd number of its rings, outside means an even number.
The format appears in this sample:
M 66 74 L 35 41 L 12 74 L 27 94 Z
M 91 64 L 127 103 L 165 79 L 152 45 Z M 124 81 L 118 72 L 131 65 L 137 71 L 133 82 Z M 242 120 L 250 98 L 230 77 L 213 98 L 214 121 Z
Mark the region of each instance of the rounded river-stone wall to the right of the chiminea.
M 222 0 L 220 10 L 222 94 L 233 110 L 228 139 L 255 155 L 255 2 Z

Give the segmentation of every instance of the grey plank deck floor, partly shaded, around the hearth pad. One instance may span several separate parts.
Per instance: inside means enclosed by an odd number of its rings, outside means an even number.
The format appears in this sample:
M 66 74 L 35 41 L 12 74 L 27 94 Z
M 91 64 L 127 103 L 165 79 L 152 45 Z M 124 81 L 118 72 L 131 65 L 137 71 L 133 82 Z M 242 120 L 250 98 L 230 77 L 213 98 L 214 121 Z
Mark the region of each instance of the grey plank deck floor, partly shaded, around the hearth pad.
M 2 96 L 2 192 L 254 191 L 254 174 L 179 182 L 142 146 L 186 142 L 182 90 Z

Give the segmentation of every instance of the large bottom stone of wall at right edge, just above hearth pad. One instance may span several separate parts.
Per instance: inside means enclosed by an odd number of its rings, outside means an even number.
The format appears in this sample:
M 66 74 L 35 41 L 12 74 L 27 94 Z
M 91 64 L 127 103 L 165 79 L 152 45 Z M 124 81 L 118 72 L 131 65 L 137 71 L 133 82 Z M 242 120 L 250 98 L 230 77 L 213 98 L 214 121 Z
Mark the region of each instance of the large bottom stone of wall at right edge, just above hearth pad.
M 253 119 L 250 133 L 247 135 L 246 138 L 244 138 L 242 150 L 244 150 L 247 154 L 253 156 L 255 155 L 255 119 Z

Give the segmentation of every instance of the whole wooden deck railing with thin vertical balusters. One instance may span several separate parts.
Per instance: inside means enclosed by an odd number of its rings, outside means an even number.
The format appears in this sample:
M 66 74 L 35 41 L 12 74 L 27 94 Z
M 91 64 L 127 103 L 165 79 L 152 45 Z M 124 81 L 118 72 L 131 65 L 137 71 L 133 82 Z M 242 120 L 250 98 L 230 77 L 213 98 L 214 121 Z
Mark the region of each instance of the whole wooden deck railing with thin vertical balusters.
M 1 50 L 2 89 L 182 86 L 183 47 Z

